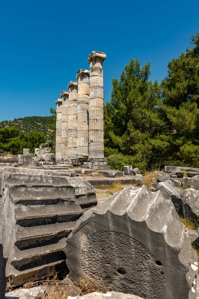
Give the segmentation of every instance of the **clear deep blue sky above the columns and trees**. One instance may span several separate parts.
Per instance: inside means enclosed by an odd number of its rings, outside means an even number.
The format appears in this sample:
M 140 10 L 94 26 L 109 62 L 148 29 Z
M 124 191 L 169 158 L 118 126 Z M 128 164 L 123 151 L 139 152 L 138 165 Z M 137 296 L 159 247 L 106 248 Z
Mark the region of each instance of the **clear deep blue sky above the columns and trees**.
M 199 0 L 0 1 L 0 121 L 50 115 L 92 50 L 106 52 L 104 100 L 130 58 L 152 80 L 199 31 Z

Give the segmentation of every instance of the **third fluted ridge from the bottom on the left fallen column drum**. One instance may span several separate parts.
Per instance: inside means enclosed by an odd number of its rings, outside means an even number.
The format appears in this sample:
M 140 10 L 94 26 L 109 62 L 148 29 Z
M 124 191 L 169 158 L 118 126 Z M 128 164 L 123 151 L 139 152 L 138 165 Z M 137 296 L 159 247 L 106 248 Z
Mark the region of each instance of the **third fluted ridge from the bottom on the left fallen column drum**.
M 31 239 L 46 239 L 60 233 L 69 234 L 74 228 L 76 221 L 62 222 L 48 225 L 38 225 L 30 227 L 21 227 L 20 225 L 15 226 L 15 234 L 17 242 Z M 16 244 L 16 243 L 15 243 Z

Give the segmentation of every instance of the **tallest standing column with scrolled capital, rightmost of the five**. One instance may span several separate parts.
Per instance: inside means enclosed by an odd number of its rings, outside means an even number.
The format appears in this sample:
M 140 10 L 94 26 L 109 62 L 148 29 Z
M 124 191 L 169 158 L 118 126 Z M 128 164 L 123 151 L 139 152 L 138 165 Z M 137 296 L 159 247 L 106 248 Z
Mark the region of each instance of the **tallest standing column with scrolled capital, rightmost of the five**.
M 89 159 L 103 161 L 103 61 L 106 54 L 92 51 L 90 64 Z

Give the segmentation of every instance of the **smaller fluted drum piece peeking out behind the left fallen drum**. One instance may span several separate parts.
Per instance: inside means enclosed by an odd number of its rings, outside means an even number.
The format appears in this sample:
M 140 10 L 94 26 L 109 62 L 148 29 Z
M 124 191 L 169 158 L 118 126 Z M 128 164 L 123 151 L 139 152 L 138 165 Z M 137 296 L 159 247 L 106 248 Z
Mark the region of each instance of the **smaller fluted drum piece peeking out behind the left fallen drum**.
M 97 205 L 94 187 L 82 177 L 69 177 L 69 183 L 75 188 L 76 203 L 85 211 Z

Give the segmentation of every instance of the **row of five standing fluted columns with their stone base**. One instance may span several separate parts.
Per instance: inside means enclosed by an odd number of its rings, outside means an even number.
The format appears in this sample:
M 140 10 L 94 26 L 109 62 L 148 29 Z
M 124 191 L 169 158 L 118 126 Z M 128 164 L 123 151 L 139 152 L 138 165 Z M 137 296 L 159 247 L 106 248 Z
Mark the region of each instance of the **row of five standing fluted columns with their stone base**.
M 103 61 L 106 54 L 92 51 L 90 71 L 79 69 L 78 81 L 56 101 L 56 161 L 92 169 L 110 169 L 103 153 Z

